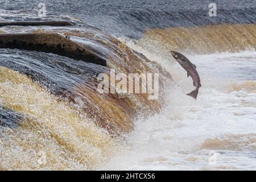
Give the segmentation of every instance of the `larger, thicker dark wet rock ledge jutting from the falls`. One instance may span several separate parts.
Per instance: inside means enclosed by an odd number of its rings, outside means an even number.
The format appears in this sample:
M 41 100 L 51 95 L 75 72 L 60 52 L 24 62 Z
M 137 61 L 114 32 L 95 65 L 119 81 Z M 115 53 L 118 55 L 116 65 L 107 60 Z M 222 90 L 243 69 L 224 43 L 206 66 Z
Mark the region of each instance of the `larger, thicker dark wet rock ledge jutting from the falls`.
M 57 33 L 0 34 L 0 48 L 51 52 L 60 56 L 106 66 L 106 60 L 80 43 Z

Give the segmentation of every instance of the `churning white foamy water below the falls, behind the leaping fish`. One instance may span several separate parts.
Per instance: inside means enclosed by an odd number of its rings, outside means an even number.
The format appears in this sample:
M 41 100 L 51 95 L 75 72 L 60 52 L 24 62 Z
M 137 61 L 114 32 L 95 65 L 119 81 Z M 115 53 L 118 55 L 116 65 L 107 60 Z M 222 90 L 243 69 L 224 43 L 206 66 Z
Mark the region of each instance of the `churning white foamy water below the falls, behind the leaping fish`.
M 160 114 L 135 123 L 130 150 L 101 169 L 256 169 L 256 52 L 187 55 L 201 77 L 196 101 L 185 95 L 192 80 L 174 60 L 147 56 L 177 86 L 166 90 Z

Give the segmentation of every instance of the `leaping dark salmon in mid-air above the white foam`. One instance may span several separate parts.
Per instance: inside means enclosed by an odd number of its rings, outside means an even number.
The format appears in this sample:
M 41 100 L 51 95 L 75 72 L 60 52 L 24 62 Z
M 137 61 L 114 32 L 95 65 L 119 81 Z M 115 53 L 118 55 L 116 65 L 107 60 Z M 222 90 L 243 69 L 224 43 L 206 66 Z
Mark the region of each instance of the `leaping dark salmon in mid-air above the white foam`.
M 181 67 L 184 68 L 185 71 L 187 71 L 188 77 L 191 76 L 193 80 L 193 86 L 195 86 L 196 88 L 195 90 L 193 90 L 191 93 L 188 93 L 187 95 L 195 98 L 196 100 L 198 90 L 201 87 L 201 81 L 200 81 L 200 76 L 196 71 L 195 64 L 191 63 L 191 61 L 189 61 L 187 57 L 185 57 L 179 52 L 171 51 L 171 53 L 172 53 L 172 56 L 174 56 L 174 58 L 176 59 L 176 61 L 181 65 Z

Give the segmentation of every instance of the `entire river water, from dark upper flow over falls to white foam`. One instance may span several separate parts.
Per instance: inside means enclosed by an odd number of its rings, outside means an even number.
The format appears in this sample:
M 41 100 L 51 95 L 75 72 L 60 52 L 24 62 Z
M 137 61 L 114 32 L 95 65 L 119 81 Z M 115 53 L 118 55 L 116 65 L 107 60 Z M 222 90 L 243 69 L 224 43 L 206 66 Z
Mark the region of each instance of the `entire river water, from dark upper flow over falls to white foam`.
M 0 49 L 0 169 L 255 169 L 254 1 L 1 1 L 0 34 L 69 36 L 106 66 L 51 52 Z M 0 40 L 1 43 L 1 40 Z M 2 43 L 1 43 L 2 45 Z M 62 45 L 63 46 L 63 45 Z M 170 50 L 194 64 L 202 88 Z M 159 73 L 159 99 L 100 94 L 97 76 Z

